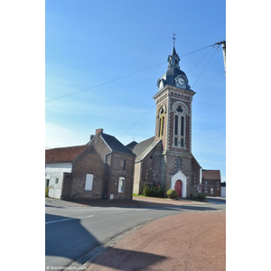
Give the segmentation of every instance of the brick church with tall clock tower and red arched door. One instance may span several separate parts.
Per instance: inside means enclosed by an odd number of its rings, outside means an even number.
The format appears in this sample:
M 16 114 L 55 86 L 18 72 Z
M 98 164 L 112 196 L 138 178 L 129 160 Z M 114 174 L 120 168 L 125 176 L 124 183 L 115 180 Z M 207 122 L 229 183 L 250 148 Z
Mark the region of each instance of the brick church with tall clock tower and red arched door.
M 192 155 L 192 98 L 196 94 L 180 69 L 180 57 L 173 45 L 168 68 L 157 80 L 155 135 L 143 142 L 126 145 L 135 157 L 134 193 L 145 182 L 175 189 L 178 197 L 197 195 L 201 165 Z

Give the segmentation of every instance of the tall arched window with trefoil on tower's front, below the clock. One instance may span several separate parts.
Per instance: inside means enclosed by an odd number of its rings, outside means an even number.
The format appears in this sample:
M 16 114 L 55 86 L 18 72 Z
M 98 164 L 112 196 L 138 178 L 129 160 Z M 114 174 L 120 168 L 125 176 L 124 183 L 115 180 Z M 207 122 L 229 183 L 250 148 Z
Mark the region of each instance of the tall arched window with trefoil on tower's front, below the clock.
M 187 107 L 181 103 L 173 105 L 174 113 L 174 131 L 173 131 L 173 146 L 185 148 L 185 115 Z

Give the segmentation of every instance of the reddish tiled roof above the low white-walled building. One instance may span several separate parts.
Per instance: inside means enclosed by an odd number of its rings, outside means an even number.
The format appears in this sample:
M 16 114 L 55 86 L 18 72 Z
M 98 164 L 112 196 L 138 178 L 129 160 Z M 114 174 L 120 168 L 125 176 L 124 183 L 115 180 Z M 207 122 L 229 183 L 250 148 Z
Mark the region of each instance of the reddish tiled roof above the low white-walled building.
M 45 163 L 72 162 L 88 148 L 89 145 L 76 145 L 45 150 Z

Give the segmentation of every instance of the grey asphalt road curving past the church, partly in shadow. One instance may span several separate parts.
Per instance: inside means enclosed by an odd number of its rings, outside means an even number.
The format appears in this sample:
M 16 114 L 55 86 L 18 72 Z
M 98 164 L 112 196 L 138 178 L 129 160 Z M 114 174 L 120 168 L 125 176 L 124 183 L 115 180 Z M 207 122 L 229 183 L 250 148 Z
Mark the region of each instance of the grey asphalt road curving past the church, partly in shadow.
M 83 265 L 80 257 L 92 248 L 148 221 L 183 211 L 217 210 L 224 206 L 46 207 L 45 270 L 63 270 L 74 261 Z

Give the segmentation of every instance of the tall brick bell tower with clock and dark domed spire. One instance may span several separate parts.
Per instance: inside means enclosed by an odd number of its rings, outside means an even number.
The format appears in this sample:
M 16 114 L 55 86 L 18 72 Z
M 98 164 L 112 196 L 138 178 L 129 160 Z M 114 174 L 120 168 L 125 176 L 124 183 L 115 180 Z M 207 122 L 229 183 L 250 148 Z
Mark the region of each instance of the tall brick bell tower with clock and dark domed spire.
M 174 40 L 174 38 L 173 38 Z M 186 74 L 180 68 L 180 57 L 173 44 L 168 56 L 168 68 L 157 80 L 155 141 L 162 141 L 163 151 L 157 154 L 161 161 L 161 182 L 165 189 L 176 189 L 187 197 L 195 193 L 192 188 L 192 98 Z M 180 181 L 180 182 L 179 182 Z

